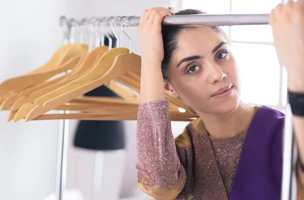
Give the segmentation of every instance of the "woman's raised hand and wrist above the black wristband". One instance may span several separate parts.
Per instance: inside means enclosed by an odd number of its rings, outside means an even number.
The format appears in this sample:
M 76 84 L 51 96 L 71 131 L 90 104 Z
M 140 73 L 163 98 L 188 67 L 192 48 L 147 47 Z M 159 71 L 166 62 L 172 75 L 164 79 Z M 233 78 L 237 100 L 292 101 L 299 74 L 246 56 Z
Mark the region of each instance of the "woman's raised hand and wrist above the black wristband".
M 279 61 L 288 72 L 288 89 L 304 92 L 304 0 L 277 5 L 269 20 Z

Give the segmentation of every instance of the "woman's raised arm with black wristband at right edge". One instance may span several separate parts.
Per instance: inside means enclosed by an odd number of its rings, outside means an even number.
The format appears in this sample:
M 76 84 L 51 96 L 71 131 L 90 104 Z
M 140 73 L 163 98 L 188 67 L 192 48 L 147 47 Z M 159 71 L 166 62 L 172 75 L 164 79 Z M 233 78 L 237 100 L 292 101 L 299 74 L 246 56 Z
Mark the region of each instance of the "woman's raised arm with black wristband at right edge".
M 298 149 L 298 175 L 304 185 L 304 1 L 279 4 L 270 13 L 278 59 L 288 73 L 288 100 Z

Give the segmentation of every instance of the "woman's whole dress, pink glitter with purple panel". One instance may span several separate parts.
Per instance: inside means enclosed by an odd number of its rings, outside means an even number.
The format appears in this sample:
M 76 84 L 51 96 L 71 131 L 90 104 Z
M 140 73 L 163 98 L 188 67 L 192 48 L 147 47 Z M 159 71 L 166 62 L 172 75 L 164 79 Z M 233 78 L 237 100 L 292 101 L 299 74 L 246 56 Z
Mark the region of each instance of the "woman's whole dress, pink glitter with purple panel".
M 168 109 L 169 101 L 139 105 L 136 169 L 138 185 L 145 193 L 166 200 L 280 199 L 283 113 L 256 107 L 244 133 L 235 143 L 229 141 L 235 150 L 220 153 L 229 148 L 215 145 L 200 118 L 174 139 Z M 226 167 L 232 170 L 220 166 L 224 157 L 232 161 Z M 229 180 L 232 184 L 226 184 Z M 298 200 L 304 199 L 303 188 L 304 170 L 298 162 Z

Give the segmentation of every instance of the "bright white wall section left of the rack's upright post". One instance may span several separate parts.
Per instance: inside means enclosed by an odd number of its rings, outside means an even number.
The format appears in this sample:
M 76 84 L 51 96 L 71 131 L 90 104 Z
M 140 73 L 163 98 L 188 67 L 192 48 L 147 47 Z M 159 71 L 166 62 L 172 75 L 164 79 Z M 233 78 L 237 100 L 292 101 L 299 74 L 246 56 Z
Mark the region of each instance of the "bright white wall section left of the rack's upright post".
M 62 43 L 61 1 L 1 1 L 0 82 L 44 64 Z M 0 199 L 40 200 L 55 186 L 58 121 L 6 123 L 0 112 Z

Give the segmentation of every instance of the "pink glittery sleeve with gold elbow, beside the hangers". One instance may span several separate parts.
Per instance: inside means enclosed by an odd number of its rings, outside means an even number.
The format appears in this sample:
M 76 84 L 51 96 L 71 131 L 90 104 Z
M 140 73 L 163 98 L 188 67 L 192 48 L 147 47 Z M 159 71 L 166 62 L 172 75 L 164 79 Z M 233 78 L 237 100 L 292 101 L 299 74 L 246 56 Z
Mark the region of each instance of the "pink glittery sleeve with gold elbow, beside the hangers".
M 186 175 L 172 134 L 169 101 L 139 105 L 136 149 L 138 186 L 155 199 L 175 199 Z

